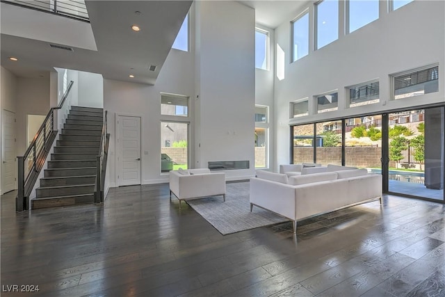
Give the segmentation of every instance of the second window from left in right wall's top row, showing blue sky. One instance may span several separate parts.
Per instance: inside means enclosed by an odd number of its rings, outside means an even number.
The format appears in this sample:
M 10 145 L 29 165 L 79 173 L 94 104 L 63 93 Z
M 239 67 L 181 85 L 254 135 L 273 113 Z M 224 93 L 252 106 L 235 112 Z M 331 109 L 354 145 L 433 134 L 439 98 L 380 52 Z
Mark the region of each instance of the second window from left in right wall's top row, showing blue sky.
M 339 38 L 339 1 L 322 1 L 315 6 L 316 49 Z

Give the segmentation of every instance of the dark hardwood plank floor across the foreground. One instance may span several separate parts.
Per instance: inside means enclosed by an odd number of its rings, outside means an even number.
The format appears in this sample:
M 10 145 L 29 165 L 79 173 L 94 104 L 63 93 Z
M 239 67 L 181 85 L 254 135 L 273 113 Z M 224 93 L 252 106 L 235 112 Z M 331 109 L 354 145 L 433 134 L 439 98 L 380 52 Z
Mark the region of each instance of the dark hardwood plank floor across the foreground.
M 385 195 L 296 236 L 223 236 L 168 194 L 127 186 L 103 206 L 23 213 L 1 196 L 1 296 L 445 296 L 444 204 Z

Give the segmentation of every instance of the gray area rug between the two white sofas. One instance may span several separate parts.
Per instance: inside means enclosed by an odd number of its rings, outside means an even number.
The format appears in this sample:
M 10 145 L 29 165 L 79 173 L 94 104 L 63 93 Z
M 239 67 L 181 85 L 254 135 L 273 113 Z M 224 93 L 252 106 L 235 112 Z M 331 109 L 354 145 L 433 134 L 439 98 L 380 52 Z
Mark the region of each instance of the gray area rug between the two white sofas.
M 227 184 L 225 202 L 215 196 L 187 203 L 223 235 L 288 221 L 260 207 L 250 212 L 249 182 Z

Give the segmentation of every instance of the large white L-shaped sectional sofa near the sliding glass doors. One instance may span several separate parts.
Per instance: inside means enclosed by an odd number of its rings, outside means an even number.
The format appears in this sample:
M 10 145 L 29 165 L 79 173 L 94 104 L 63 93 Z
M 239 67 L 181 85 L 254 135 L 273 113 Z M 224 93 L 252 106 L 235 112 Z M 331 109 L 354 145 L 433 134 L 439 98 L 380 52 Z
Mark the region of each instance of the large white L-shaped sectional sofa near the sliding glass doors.
M 257 170 L 257 177 L 250 179 L 250 211 L 255 205 L 289 218 L 296 233 L 298 220 L 376 199 L 382 203 L 382 175 L 327 168 L 332 171 L 291 177 Z

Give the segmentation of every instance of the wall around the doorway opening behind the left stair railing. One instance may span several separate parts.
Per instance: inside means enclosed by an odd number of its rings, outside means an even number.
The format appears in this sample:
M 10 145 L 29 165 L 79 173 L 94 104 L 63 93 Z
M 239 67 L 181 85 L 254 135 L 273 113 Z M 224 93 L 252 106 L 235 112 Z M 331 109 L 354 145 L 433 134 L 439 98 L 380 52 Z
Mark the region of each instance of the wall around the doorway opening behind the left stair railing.
M 49 111 L 49 77 L 17 79 L 17 155 L 26 151 L 27 115 L 47 115 Z

